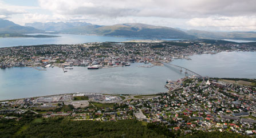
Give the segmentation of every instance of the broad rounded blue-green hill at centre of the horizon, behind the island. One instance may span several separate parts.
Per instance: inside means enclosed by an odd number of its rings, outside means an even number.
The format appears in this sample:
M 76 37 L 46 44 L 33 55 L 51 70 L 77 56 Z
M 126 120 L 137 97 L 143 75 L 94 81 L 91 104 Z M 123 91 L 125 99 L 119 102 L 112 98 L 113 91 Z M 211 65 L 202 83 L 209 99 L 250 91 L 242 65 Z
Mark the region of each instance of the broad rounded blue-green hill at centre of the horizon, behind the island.
M 135 38 L 195 38 L 195 36 L 188 35 L 184 31 L 173 29 L 171 27 L 152 26 L 141 23 L 124 23 L 113 26 L 85 26 L 75 27 L 73 29 L 62 30 L 62 33 L 72 34 L 96 34 L 106 36 L 124 36 Z

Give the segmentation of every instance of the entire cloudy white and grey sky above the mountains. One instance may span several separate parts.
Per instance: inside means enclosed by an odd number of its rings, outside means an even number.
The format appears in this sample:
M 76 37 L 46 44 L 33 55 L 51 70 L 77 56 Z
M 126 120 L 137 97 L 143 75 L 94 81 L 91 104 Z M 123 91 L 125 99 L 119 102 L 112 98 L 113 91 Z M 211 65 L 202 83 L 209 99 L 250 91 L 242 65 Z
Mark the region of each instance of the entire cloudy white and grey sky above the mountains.
M 80 21 L 256 31 L 256 0 L 0 0 L 0 18 L 19 25 Z

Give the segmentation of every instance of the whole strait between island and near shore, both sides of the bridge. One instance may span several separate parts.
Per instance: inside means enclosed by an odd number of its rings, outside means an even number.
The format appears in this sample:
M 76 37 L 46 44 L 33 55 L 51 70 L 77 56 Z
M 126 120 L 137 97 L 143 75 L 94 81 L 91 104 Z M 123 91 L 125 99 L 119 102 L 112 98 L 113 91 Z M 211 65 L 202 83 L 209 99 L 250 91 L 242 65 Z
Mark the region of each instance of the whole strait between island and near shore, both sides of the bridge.
M 190 56 L 192 60 L 176 59 L 172 63 L 186 67 L 202 76 L 218 78 L 256 78 L 256 52 L 220 52 Z M 167 79 L 183 78 L 168 67 L 137 67 L 150 65 L 131 63 L 128 67 L 88 70 L 73 67 L 64 73 L 61 68 L 38 71 L 30 67 L 0 70 L 0 100 L 27 98 L 72 92 L 108 94 L 156 94 L 166 92 Z

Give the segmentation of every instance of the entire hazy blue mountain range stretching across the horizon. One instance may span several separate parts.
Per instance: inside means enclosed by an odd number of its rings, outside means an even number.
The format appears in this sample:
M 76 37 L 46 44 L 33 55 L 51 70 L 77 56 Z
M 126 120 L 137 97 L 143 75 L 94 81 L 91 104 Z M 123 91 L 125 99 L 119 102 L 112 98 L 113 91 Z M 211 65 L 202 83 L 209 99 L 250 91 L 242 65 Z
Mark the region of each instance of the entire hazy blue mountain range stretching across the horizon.
M 146 25 L 143 23 L 123 23 L 112 26 L 92 25 L 86 22 L 48 22 L 26 23 L 17 25 L 5 19 L 0 19 L 0 34 L 89 34 L 104 36 L 123 36 L 145 39 L 246 39 L 256 40 L 255 32 L 209 32 L 201 30 L 183 30 L 164 26 Z

